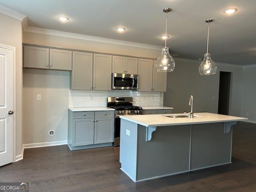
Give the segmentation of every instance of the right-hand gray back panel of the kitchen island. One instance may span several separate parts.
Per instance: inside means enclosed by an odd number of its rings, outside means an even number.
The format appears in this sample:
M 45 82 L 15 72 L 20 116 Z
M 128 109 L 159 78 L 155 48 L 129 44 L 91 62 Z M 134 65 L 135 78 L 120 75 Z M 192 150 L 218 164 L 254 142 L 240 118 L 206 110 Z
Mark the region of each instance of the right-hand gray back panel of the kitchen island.
M 193 124 L 190 169 L 230 163 L 232 128 L 224 134 L 224 122 Z

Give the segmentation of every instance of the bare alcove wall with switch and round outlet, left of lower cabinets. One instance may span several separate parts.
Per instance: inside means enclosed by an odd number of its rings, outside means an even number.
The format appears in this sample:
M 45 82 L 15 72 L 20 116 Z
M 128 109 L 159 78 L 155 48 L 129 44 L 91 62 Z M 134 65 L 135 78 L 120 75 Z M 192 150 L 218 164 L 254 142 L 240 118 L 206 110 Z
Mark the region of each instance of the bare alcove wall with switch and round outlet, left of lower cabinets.
M 24 144 L 67 140 L 69 72 L 24 69 L 23 79 Z

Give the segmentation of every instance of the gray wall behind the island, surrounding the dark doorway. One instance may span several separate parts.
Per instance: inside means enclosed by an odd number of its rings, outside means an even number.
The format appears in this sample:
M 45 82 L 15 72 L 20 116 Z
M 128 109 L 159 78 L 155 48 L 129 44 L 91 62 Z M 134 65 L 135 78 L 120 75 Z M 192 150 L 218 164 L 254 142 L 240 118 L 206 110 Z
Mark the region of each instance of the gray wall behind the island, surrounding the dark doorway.
M 243 68 L 218 64 L 218 73 L 200 76 L 200 62 L 175 58 L 176 66 L 167 75 L 164 105 L 174 107 L 174 113 L 190 110 L 189 96 L 194 96 L 194 112 L 218 113 L 220 71 L 232 72 L 229 114 L 240 116 Z

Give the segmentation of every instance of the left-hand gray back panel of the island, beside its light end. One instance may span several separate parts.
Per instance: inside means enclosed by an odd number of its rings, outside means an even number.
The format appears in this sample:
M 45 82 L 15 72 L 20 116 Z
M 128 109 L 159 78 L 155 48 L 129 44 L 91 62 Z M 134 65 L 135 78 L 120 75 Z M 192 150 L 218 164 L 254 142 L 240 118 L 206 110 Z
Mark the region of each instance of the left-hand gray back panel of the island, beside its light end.
M 189 170 L 190 125 L 160 126 L 146 142 L 146 127 L 138 125 L 137 180 Z

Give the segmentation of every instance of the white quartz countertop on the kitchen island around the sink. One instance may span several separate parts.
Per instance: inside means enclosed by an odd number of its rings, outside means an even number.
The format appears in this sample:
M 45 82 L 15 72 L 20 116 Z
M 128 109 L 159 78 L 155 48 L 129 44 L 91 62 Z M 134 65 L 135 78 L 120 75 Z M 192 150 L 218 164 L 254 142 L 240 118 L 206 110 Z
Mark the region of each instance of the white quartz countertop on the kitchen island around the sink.
M 220 114 L 214 114 L 214 113 L 194 113 L 194 118 L 167 117 L 167 116 L 176 116 L 176 115 L 184 115 L 184 114 L 126 115 L 126 116 L 119 116 L 119 117 L 121 119 L 125 119 L 146 127 L 248 120 L 248 118 L 220 115 Z

